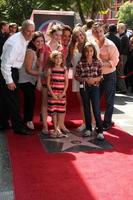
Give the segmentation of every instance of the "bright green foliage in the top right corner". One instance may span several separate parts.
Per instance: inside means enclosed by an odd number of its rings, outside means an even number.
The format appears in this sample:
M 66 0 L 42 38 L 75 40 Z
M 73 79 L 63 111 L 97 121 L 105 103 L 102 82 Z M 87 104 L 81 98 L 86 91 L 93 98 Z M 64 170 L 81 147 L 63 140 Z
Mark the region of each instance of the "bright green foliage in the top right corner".
M 119 22 L 127 24 L 128 28 L 133 29 L 133 2 L 125 2 L 117 13 Z

